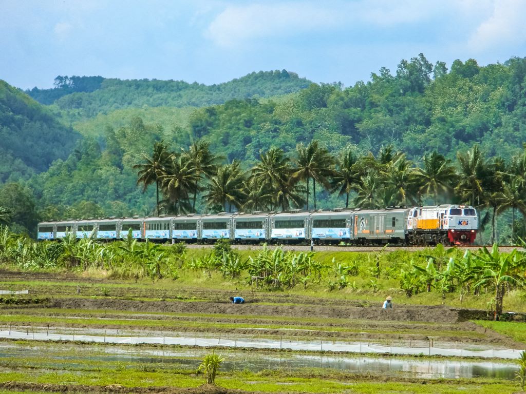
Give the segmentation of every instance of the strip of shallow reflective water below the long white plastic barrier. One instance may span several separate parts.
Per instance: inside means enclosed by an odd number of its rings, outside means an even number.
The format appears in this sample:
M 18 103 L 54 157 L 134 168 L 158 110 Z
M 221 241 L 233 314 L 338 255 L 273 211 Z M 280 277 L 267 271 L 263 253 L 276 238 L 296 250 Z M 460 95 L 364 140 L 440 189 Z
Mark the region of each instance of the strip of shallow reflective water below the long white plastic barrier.
M 82 367 L 80 360 L 100 362 L 133 362 L 155 364 L 155 368 L 197 368 L 200 360 L 209 352 L 206 349 L 138 349 L 107 346 L 98 348 L 94 354 L 93 347 L 77 346 L 75 353 L 72 347 L 64 346 L 60 355 L 59 347 L 27 348 L 14 345 L 0 346 L 0 358 L 29 357 L 38 352 L 43 358 L 53 359 L 54 367 Z M 227 356 L 222 364 L 222 370 L 264 369 L 299 370 L 301 368 L 324 368 L 348 372 L 364 373 L 378 372 L 397 374 L 420 378 L 500 378 L 514 379 L 518 370 L 517 364 L 510 362 L 470 361 L 436 359 L 421 360 L 418 358 L 382 358 L 382 357 L 350 357 L 340 355 L 308 355 L 308 354 L 269 354 L 264 352 L 231 351 L 221 352 Z M 78 360 L 78 361 L 77 361 Z M 130 364 L 130 367 L 132 365 Z M 136 367 L 136 365 L 135 365 Z M 153 367 L 153 366 L 152 366 Z

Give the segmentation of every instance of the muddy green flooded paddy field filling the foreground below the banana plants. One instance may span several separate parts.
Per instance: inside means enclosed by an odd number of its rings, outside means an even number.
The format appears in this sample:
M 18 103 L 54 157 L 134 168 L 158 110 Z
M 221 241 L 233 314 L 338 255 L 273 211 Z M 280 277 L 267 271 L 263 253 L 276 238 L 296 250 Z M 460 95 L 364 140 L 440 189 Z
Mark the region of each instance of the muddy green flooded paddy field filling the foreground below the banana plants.
M 0 394 L 496 394 L 518 387 L 517 362 L 495 355 L 524 344 L 469 321 L 479 315 L 468 309 L 397 305 L 385 311 L 367 301 L 335 303 L 329 296 L 258 292 L 250 303 L 231 305 L 225 301 L 229 293 L 218 289 L 53 275 L 5 277 L 3 287 L 28 288 L 34 302 L 0 305 L 0 331 L 19 334 L 0 339 Z M 89 336 L 102 340 L 90 343 Z M 117 343 L 127 337 L 163 340 Z M 166 338 L 171 337 L 188 343 L 170 345 Z M 105 343 L 110 339 L 114 343 Z M 204 347 L 195 346 L 197 339 Z M 227 347 L 243 341 L 261 346 Z M 346 344 L 358 347 L 338 350 Z M 414 354 L 372 354 L 372 346 L 403 346 Z M 434 348 L 466 352 L 436 356 Z M 466 357 L 490 350 L 494 353 L 487 359 Z M 225 357 L 218 387 L 203 386 L 203 374 L 197 372 L 212 351 Z

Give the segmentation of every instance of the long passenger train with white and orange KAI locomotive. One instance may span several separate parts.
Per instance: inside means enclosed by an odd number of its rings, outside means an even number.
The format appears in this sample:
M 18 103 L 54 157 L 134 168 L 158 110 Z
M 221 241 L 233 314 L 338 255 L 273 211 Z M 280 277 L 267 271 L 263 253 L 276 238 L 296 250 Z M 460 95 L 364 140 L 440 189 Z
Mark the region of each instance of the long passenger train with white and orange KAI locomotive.
M 470 205 L 397 206 L 289 212 L 107 217 L 38 223 L 38 240 L 76 238 L 239 244 L 470 245 L 478 231 Z

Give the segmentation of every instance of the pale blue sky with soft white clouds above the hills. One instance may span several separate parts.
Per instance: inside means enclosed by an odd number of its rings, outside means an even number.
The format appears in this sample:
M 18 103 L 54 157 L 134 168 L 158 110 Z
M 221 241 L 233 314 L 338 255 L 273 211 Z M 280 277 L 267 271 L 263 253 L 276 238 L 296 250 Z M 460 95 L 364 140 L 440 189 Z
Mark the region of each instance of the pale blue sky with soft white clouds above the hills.
M 526 56 L 526 0 L 0 0 L 0 79 L 206 85 L 252 71 L 352 86 L 423 53 L 479 65 Z

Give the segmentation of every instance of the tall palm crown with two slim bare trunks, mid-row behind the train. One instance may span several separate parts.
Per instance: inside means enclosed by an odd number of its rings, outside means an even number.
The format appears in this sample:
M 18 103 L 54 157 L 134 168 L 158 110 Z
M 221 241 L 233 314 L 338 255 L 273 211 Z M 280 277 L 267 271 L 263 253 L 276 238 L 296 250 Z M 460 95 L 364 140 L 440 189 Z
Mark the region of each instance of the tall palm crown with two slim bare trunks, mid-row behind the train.
M 333 165 L 335 159 L 326 148 L 320 147 L 317 140 L 311 141 L 307 147 L 300 143 L 296 146 L 298 152 L 297 167 L 292 174 L 298 180 L 307 181 L 307 210 L 309 209 L 309 181 L 312 178 L 314 209 L 316 209 L 316 182 L 327 190 L 330 188 L 328 178 L 335 174 Z

